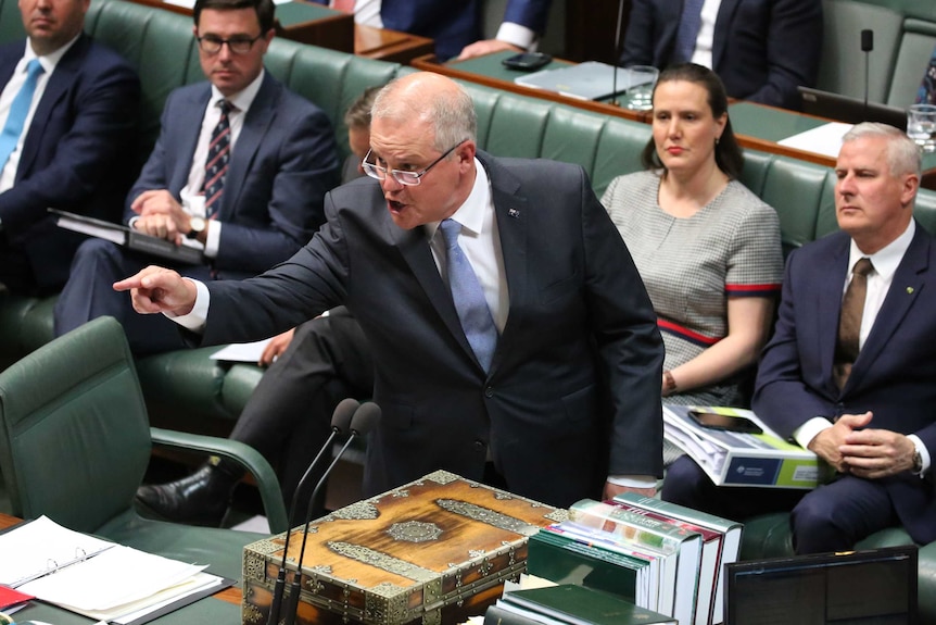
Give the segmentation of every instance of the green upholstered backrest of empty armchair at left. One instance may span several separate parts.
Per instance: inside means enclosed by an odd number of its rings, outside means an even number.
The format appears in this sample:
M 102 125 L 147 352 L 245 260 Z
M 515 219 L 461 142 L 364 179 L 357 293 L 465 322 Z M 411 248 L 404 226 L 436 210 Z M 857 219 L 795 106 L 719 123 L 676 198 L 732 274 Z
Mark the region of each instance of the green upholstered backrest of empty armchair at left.
M 94 532 L 129 509 L 149 455 L 147 409 L 114 318 L 0 373 L 0 467 L 17 516 Z

